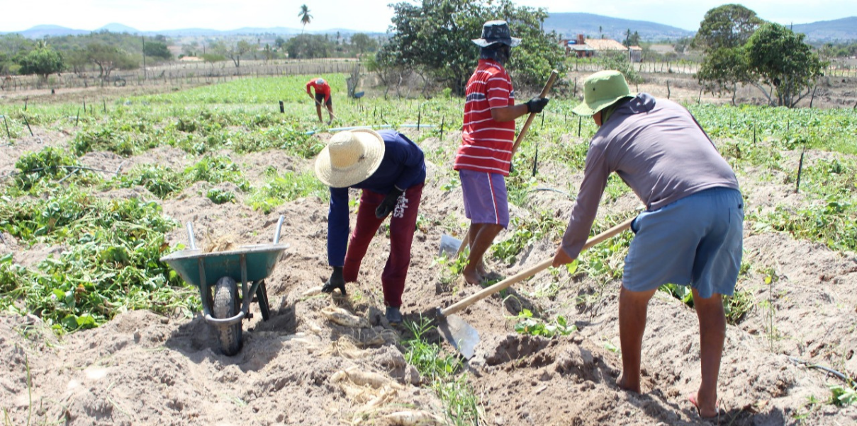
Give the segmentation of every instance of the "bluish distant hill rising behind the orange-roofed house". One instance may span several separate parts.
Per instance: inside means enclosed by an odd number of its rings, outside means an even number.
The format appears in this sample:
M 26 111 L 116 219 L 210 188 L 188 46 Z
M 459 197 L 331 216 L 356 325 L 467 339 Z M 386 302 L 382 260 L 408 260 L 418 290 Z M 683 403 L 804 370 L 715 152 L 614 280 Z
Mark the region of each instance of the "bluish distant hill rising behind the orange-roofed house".
M 598 27 L 601 27 L 601 33 L 598 32 Z M 584 34 L 589 38 L 601 38 L 604 34 L 606 38 L 624 40 L 625 33 L 629 29 L 631 33 L 635 31 L 639 33 L 644 41 L 677 39 L 691 37 L 694 34 L 679 27 L 650 21 L 632 21 L 582 13 L 550 14 L 544 21 L 544 31 L 555 31 L 565 38 L 574 38 L 578 34 Z

